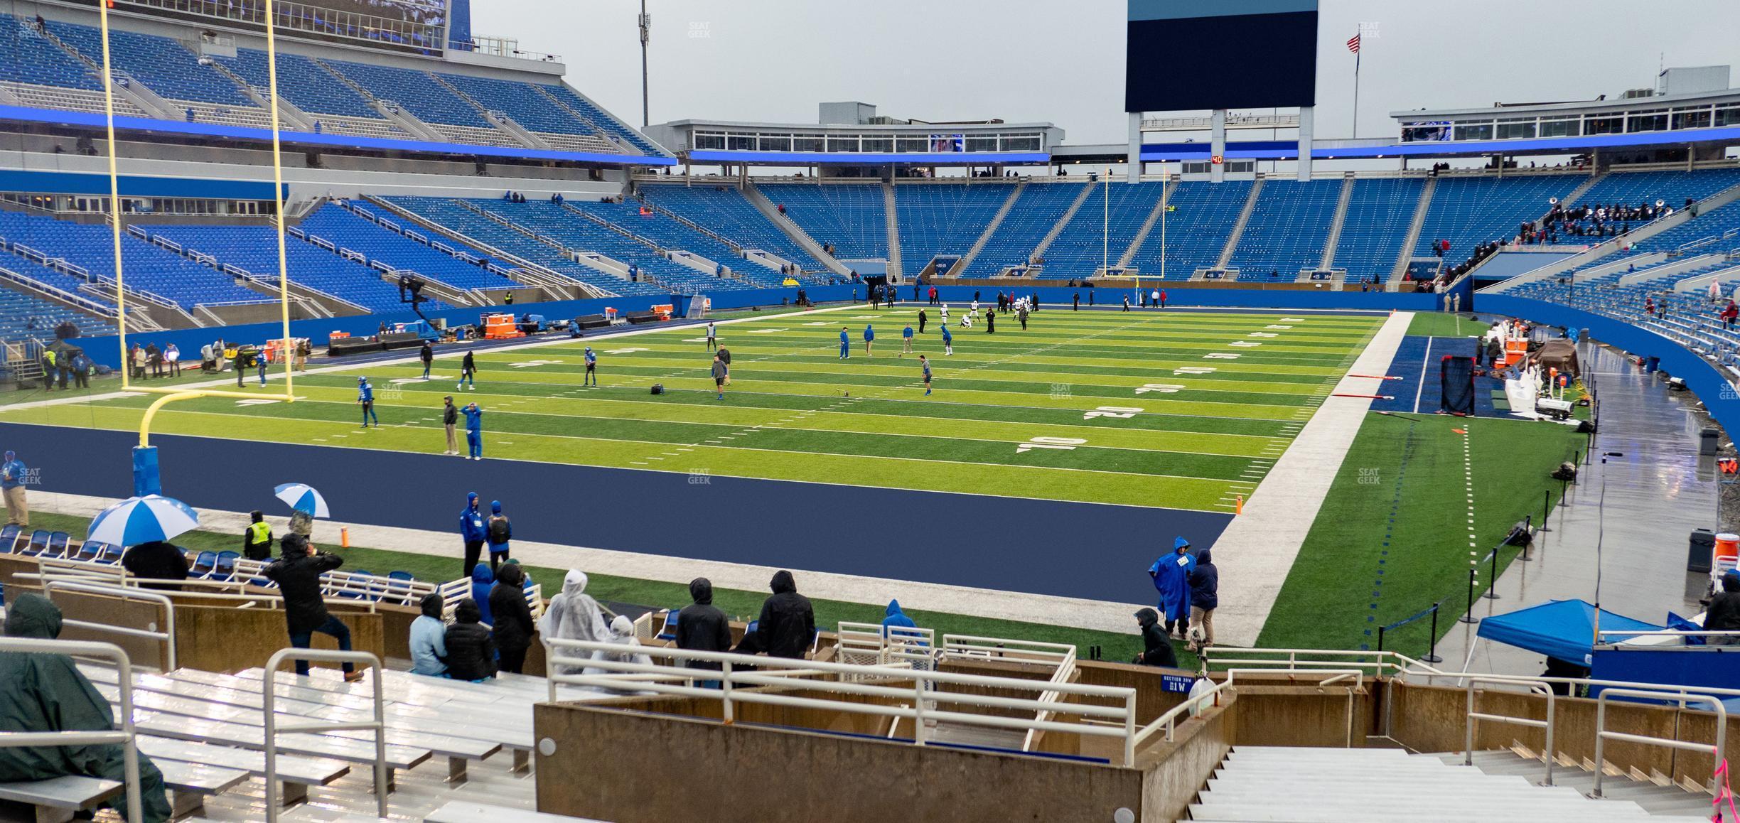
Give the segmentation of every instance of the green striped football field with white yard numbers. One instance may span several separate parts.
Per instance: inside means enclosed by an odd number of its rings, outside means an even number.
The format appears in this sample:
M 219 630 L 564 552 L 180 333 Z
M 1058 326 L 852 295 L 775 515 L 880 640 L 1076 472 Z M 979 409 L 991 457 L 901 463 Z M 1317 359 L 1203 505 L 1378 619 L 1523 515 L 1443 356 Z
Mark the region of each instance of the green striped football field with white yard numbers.
M 919 310 L 929 324 L 903 355 L 901 329 L 917 329 Z M 478 350 L 475 391 L 454 388 L 454 346 L 430 381 L 414 351 L 320 367 L 296 376 L 294 404 L 184 400 L 151 430 L 440 454 L 442 397 L 454 395 L 484 411 L 485 459 L 1232 512 L 1383 320 L 1046 308 L 1025 331 L 999 315 L 988 334 L 983 311 L 962 329 L 964 306 L 950 310 L 954 355 L 943 353 L 938 306 L 720 322 L 731 350 L 722 400 L 705 332 L 691 324 Z M 595 388 L 583 385 L 588 345 Z M 920 353 L 934 374 L 929 397 Z M 358 428 L 358 376 L 374 385 L 381 428 Z M 68 398 L 0 409 L 0 421 L 136 430 L 153 398 Z

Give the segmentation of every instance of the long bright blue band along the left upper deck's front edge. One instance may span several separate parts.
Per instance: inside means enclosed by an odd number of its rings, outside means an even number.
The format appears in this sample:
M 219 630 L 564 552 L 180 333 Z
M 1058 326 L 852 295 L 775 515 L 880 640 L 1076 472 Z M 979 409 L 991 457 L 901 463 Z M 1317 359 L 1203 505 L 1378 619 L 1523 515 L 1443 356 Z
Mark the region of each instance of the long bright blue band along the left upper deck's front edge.
M 0 104 L 0 122 L 103 129 L 106 125 L 106 117 L 89 111 L 61 111 L 61 110 Z M 271 143 L 270 129 L 249 129 L 249 127 L 223 125 L 223 124 L 153 120 L 144 117 L 117 117 L 115 129 L 118 132 L 129 132 L 129 134 L 183 136 L 183 137 L 202 137 L 202 139 L 216 137 L 226 141 L 247 141 L 261 144 Z M 299 146 L 301 150 L 332 148 L 332 150 L 362 150 L 362 151 L 404 151 L 414 155 L 444 155 L 444 157 L 463 155 L 463 157 L 480 157 L 480 158 L 496 157 L 512 160 L 555 160 L 569 164 L 628 165 L 628 167 L 677 165 L 677 160 L 670 157 L 647 157 L 647 155 L 628 155 L 628 153 L 618 155 L 606 151 L 555 151 L 555 150 L 513 148 L 513 146 L 473 146 L 473 144 L 433 143 L 419 139 L 362 137 L 355 134 L 280 130 L 278 139 L 284 144 Z

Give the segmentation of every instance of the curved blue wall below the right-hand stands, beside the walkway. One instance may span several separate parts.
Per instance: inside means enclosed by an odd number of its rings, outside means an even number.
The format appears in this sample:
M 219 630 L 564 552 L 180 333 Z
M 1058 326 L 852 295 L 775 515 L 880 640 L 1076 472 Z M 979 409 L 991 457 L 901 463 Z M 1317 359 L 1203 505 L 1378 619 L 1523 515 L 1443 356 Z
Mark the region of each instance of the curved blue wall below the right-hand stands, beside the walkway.
M 1735 385 L 1703 357 L 1679 343 L 1623 320 L 1576 308 L 1509 294 L 1481 294 L 1481 313 L 1519 317 L 1535 324 L 1583 329 L 1583 332 L 1622 351 L 1658 357 L 1662 371 L 1686 381 L 1686 388 L 1703 400 L 1710 418 L 1733 435 L 1740 432 L 1740 397 Z

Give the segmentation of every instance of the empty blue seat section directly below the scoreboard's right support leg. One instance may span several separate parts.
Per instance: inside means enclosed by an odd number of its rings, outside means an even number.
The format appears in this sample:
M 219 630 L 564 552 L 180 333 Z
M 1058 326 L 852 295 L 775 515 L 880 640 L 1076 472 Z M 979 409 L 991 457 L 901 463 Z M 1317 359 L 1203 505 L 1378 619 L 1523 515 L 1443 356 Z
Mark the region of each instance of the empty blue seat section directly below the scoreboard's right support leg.
M 1239 270 L 1239 280 L 1293 280 L 1302 268 L 1317 268 L 1342 186 L 1340 179 L 1265 179 L 1227 266 Z

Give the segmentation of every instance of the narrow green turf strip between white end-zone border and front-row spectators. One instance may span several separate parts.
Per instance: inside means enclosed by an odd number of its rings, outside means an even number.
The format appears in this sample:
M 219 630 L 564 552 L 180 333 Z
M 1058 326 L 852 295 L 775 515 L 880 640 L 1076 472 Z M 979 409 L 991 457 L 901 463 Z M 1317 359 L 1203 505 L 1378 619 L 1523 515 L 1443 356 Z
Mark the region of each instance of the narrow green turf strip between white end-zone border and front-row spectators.
M 57 529 L 70 534 L 84 534 L 85 527 L 90 524 L 85 517 L 71 515 L 54 515 L 45 512 L 31 512 L 31 527 L 37 529 Z M 218 534 L 207 531 L 193 531 L 176 538 L 176 545 L 190 552 L 237 552 L 240 550 L 242 538 L 238 534 Z M 338 546 L 320 546 L 324 552 L 338 553 L 345 559 L 345 567 L 351 571 L 372 571 L 376 574 L 386 574 L 388 571 L 409 571 L 418 579 L 452 579 L 459 565 L 458 557 L 435 557 L 435 555 L 416 555 L 405 552 L 386 552 L 378 548 L 338 548 Z M 553 595 L 560 588 L 562 576 L 567 569 L 552 569 L 543 565 L 525 565 L 527 574 L 532 576 L 536 583 L 543 583 L 545 595 Z M 797 576 L 799 588 L 802 588 L 804 576 Z M 689 604 L 689 586 L 682 583 L 661 583 L 651 579 L 637 578 L 618 578 L 614 574 L 595 574 L 588 572 L 586 593 L 597 597 L 599 600 L 609 600 L 618 604 L 646 606 L 654 609 L 665 607 L 682 607 Z M 755 619 L 760 614 L 760 604 L 767 597 L 767 592 L 743 592 L 736 588 L 715 588 L 713 606 L 722 609 L 733 619 Z M 811 604 L 816 609 L 816 625 L 821 628 L 837 628 L 840 621 L 849 623 L 880 623 L 886 611 L 884 606 L 865 606 L 849 604 L 840 600 L 820 600 L 813 599 Z M 934 628 L 938 635 L 955 633 L 955 635 L 974 635 L 974 637 L 1006 637 L 1011 640 L 1037 640 L 1037 642 L 1056 642 L 1056 644 L 1074 644 L 1079 654 L 1086 656 L 1088 649 L 1100 646 L 1103 649 L 1103 659 L 1128 661 L 1138 651 L 1141 651 L 1141 639 L 1136 633 L 1136 621 L 1131 618 L 1129 633 L 1115 632 L 1091 632 L 1086 628 L 1068 628 L 1054 626 L 1046 623 L 1021 623 L 1013 619 L 988 619 L 974 618 L 967 614 L 950 614 L 934 612 L 922 609 L 905 609 L 907 614 L 917 621 L 920 626 Z M 1185 668 L 1195 668 L 1197 658 L 1185 649 L 1180 642 L 1178 661 Z

